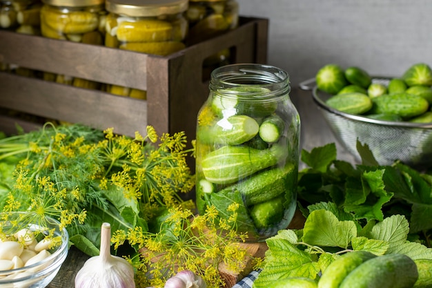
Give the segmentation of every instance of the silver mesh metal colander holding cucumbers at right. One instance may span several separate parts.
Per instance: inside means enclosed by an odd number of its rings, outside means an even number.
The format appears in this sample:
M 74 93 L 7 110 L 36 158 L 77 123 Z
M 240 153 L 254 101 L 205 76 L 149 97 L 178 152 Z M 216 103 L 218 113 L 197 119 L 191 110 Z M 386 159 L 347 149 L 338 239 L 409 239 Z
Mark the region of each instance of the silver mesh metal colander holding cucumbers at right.
M 373 83 L 388 84 L 389 78 L 376 77 Z M 311 90 L 315 104 L 337 141 L 357 161 L 360 161 L 356 148 L 359 140 L 369 146 L 381 165 L 400 160 L 415 168 L 432 166 L 432 123 L 390 122 L 343 113 L 326 105 L 331 95 L 318 90 L 315 79 L 302 82 L 300 88 Z

